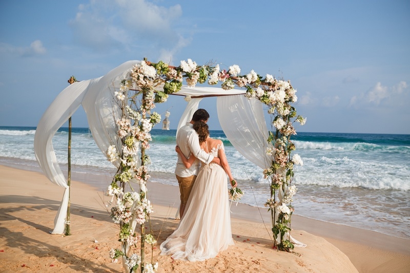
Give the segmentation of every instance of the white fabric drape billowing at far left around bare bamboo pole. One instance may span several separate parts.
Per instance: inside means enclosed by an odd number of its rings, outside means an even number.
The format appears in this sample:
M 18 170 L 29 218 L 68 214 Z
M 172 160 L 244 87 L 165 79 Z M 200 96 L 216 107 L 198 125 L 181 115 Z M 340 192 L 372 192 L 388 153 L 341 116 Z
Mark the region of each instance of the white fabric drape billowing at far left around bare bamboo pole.
M 53 136 L 82 105 L 98 148 L 105 153 L 110 143 L 117 143 L 113 114 L 118 110 L 112 105 L 112 89 L 114 86 L 119 87 L 120 80 L 137 62 L 127 61 L 104 77 L 74 82 L 54 99 L 38 122 L 34 135 L 37 162 L 51 182 L 65 188 L 63 200 L 54 219 L 52 234 L 64 233 L 69 201 L 67 179 L 61 172 L 54 153 Z

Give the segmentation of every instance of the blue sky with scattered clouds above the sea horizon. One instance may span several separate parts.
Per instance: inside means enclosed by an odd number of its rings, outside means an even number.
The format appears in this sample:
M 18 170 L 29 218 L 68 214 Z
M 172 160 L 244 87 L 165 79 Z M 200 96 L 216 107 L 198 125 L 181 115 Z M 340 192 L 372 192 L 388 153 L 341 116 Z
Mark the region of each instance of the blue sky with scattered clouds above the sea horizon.
M 3 0 L 0 126 L 36 126 L 71 75 L 147 57 L 289 79 L 308 118 L 298 131 L 410 134 L 409 33 L 408 1 Z M 174 129 L 185 106 L 156 111 Z M 215 99 L 200 107 L 219 130 Z M 73 126 L 88 127 L 82 109 Z

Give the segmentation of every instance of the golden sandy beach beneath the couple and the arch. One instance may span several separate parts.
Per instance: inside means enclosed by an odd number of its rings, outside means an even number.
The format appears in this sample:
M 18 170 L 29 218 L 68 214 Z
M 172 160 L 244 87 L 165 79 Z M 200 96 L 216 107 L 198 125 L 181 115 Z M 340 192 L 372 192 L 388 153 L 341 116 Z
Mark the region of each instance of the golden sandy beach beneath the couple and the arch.
M 63 188 L 38 172 L 0 165 L 0 174 L 0 271 L 122 271 L 108 255 L 119 242 L 104 205 L 106 181 L 101 187 L 72 181 L 72 235 L 61 236 L 50 232 Z M 148 188 L 159 245 L 178 223 L 173 219 L 178 189 L 155 182 Z M 266 209 L 240 203 L 231 208 L 234 246 L 214 259 L 192 263 L 160 256 L 157 245 L 158 272 L 410 272 L 410 240 L 294 215 L 292 236 L 308 246 L 284 253 L 272 249 Z M 151 248 L 146 257 L 150 261 Z

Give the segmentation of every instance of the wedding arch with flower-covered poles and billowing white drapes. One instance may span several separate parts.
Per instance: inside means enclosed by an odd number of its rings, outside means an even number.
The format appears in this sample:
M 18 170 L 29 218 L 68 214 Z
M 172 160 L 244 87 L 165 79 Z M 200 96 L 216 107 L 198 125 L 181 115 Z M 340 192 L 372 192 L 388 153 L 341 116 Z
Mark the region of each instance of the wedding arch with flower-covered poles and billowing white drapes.
M 182 86 L 184 79 L 188 86 Z M 211 85 L 221 82 L 221 88 L 196 86 L 197 82 L 207 80 Z M 73 83 L 51 103 L 34 137 L 40 168 L 50 181 L 65 188 L 52 233 L 64 232 L 69 202 L 67 180 L 57 162 L 52 138 L 81 105 L 98 148 L 118 168 L 107 194 L 116 199 L 111 216 L 120 225 L 121 249 L 112 249 L 110 255 L 113 259 L 121 258 L 128 272 L 139 265 L 141 272 L 144 266 L 155 269 L 153 261 L 144 265 L 143 253 L 144 242 L 155 243 L 153 234 L 145 235 L 144 230 L 152 211 L 146 196 L 146 182 L 150 178 L 146 153 L 151 140 L 149 132 L 161 120 L 151 110 L 170 94 L 185 96 L 188 106 L 180 118 L 179 129 L 191 119 L 202 98 L 217 96 L 217 114 L 223 132 L 236 150 L 261 167 L 270 181 L 271 198 L 265 206 L 272 215 L 274 244 L 280 250 L 293 249 L 290 217 L 296 188 L 291 182 L 293 165 L 302 162 L 298 155 L 291 157 L 295 146 L 290 137 L 296 134 L 293 122 L 305 122 L 291 105 L 297 99 L 295 93 L 290 82 L 269 74 L 263 78 L 252 70 L 242 76 L 236 65 L 229 71 L 221 71 L 218 65 L 198 66 L 191 59 L 181 61 L 179 67 L 162 61 L 156 64 L 146 60 L 127 61 L 103 77 Z M 269 107 L 268 113 L 273 116 L 274 132 L 267 129 L 263 105 Z M 133 190 L 131 182 L 139 185 L 139 192 Z M 131 191 L 126 191 L 126 185 Z M 138 240 L 137 224 L 141 227 L 141 256 L 131 251 Z

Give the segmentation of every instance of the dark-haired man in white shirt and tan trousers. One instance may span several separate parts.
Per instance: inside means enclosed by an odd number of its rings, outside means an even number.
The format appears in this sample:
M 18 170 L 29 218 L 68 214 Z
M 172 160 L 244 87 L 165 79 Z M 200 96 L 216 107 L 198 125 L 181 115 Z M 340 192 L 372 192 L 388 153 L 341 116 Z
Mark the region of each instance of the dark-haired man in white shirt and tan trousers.
M 200 161 L 209 164 L 214 162 L 220 165 L 220 159 L 214 157 L 201 150 L 199 146 L 198 134 L 192 128 L 196 121 L 208 122 L 209 114 L 205 109 L 195 111 L 190 122 L 187 122 L 179 130 L 176 136 L 176 144 L 181 149 L 182 153 L 188 158 L 192 153 Z M 187 205 L 189 194 L 194 185 L 196 175 L 198 173 L 200 162 L 196 160 L 189 169 L 185 167 L 182 160 L 178 156 L 178 161 L 175 167 L 175 176 L 179 184 L 179 192 L 181 205 L 179 206 L 179 217 L 182 218 L 185 206 Z

